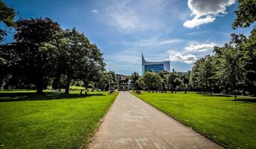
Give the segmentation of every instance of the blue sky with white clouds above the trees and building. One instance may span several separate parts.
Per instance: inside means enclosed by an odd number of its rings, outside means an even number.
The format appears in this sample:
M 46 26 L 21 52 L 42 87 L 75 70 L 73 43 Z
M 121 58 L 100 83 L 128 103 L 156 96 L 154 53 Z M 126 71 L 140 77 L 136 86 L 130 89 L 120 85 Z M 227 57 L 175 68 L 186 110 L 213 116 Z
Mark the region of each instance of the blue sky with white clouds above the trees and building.
M 170 60 L 171 70 L 189 71 L 231 33 L 252 29 L 232 29 L 235 0 L 3 1 L 18 12 L 16 20 L 48 17 L 63 29 L 75 27 L 100 48 L 107 71 L 119 74 L 141 74 L 141 53 L 146 61 Z

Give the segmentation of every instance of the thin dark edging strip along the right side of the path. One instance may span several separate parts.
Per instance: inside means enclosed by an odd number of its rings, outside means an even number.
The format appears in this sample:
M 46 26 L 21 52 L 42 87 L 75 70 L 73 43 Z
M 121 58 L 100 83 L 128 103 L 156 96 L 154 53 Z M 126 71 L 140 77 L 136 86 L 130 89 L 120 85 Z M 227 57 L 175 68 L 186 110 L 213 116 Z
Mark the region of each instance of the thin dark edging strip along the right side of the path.
M 130 93 L 131 95 L 133 95 L 130 91 L 129 91 L 129 93 Z M 134 96 L 134 97 L 137 97 L 136 95 L 133 95 L 133 96 Z M 139 98 L 139 97 L 137 97 L 137 99 L 143 101 L 143 99 L 141 99 L 141 98 Z M 173 118 L 174 120 L 177 120 L 177 122 L 179 122 L 179 123 L 181 123 L 181 124 L 183 124 L 183 125 L 185 125 L 185 126 L 187 126 L 187 127 L 190 127 L 191 129 L 193 129 L 194 131 L 196 131 L 196 133 L 199 133 L 200 135 L 206 137 L 206 138 L 209 139 L 210 141 L 213 141 L 213 142 L 215 142 L 216 144 L 219 144 L 219 145 L 222 146 L 223 148 L 228 148 L 227 146 L 225 146 L 225 145 L 222 144 L 221 142 L 218 142 L 218 141 L 215 141 L 215 140 L 211 139 L 211 138 L 208 137 L 207 135 L 204 135 L 204 133 L 201 133 L 200 131 L 194 129 L 194 128 L 191 127 L 190 125 L 185 124 L 184 122 L 182 122 L 181 120 L 178 120 L 178 119 L 175 118 L 174 116 L 167 114 L 166 112 L 164 112 L 164 111 L 162 111 L 162 110 L 160 110 L 160 109 L 154 107 L 153 105 L 150 105 L 150 104 L 147 103 L 146 101 L 143 101 L 143 102 L 146 103 L 147 105 L 149 105 L 149 106 L 155 108 L 155 109 L 158 110 L 159 112 L 162 112 L 162 113 L 165 114 L 166 116 L 169 116 L 170 118 Z

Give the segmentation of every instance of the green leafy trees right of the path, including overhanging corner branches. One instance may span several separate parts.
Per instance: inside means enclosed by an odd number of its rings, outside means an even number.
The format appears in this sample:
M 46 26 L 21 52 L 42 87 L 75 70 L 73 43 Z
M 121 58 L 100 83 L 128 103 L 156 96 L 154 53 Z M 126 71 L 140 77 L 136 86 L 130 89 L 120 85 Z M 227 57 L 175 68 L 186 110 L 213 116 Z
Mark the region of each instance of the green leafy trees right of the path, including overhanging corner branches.
M 249 27 L 256 20 L 256 2 L 238 1 L 232 28 Z M 213 55 L 198 59 L 190 75 L 191 87 L 198 91 L 256 95 L 256 27 L 246 37 L 231 34 L 229 43 L 215 46 Z

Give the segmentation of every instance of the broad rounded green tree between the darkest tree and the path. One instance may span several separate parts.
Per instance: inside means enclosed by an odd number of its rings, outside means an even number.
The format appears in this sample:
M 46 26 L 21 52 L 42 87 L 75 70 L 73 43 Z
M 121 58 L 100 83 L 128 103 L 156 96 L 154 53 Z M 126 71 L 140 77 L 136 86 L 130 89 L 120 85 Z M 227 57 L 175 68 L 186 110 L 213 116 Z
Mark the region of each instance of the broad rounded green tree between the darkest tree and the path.
M 65 93 L 69 93 L 74 80 L 82 80 L 86 88 L 91 81 L 99 82 L 105 63 L 98 47 L 75 28 L 60 31 L 56 37 L 43 46 L 56 51 L 54 86 L 64 84 Z

